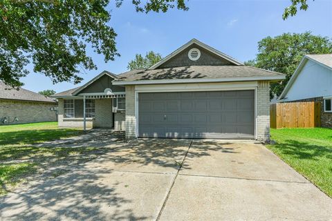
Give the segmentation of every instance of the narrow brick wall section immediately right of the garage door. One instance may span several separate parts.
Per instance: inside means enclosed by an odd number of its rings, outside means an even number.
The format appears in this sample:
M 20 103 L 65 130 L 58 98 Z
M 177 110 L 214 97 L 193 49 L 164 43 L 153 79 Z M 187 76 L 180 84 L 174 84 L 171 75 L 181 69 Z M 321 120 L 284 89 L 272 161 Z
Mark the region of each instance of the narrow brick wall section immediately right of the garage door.
M 257 87 L 257 140 L 270 140 L 270 84 L 259 81 Z

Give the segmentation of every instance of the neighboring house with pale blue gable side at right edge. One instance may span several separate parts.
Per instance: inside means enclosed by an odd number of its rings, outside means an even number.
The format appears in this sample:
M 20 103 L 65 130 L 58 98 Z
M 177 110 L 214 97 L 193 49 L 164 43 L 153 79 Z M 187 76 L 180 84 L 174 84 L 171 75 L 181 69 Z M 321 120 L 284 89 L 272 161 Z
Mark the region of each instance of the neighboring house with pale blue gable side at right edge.
M 280 102 L 321 102 L 321 124 L 332 128 L 332 55 L 304 55 Z

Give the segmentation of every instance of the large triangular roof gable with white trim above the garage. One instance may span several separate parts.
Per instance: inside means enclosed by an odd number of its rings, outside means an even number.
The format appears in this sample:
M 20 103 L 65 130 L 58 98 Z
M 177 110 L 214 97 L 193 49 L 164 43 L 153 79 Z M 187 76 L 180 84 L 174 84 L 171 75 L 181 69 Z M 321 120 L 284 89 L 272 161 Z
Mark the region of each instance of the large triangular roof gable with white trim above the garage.
M 188 57 L 188 52 L 192 48 L 197 48 L 201 51 L 201 57 L 197 61 L 192 61 Z M 157 68 L 172 68 L 179 66 L 199 66 L 199 65 L 243 65 L 240 61 L 225 55 L 223 52 L 211 48 L 203 44 L 201 41 L 192 39 L 187 44 L 181 46 L 164 59 L 159 61 L 149 70 Z

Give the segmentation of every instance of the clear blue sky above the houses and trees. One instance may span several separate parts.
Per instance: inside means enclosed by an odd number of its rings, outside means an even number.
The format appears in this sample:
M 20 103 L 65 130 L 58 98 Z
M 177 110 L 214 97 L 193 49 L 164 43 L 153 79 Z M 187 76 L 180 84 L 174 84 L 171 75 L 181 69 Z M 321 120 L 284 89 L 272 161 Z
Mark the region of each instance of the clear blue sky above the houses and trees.
M 127 71 L 128 62 L 136 54 L 145 55 L 153 50 L 166 57 L 193 38 L 239 61 L 248 61 L 255 58 L 257 42 L 264 37 L 305 31 L 332 37 L 332 0 L 308 0 L 308 10 L 300 10 L 286 21 L 282 13 L 291 0 L 190 0 L 186 1 L 187 11 L 172 9 L 149 14 L 136 12 L 129 0 L 124 0 L 120 8 L 114 2 L 107 9 L 111 11 L 109 26 L 118 34 L 116 48 L 120 57 L 105 63 L 103 55 L 89 48 L 88 55 L 98 70 L 81 68 L 84 80 L 77 85 L 52 84 L 50 78 L 33 73 L 33 66 L 29 65 L 30 74 L 21 78 L 23 88 L 35 92 L 52 89 L 59 93 L 85 84 L 103 70 L 115 74 Z

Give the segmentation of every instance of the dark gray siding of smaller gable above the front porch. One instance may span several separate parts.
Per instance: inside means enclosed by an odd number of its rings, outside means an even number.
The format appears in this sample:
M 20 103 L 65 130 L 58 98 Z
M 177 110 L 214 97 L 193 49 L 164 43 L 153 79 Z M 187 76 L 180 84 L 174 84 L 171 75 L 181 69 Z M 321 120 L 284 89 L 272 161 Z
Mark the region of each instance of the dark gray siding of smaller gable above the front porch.
M 114 79 L 108 75 L 104 75 L 97 79 L 92 84 L 80 91 L 80 93 L 103 93 L 106 88 L 111 88 L 113 92 L 122 92 L 124 87 L 113 85 L 112 81 Z

